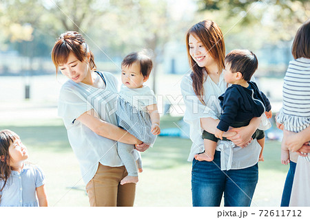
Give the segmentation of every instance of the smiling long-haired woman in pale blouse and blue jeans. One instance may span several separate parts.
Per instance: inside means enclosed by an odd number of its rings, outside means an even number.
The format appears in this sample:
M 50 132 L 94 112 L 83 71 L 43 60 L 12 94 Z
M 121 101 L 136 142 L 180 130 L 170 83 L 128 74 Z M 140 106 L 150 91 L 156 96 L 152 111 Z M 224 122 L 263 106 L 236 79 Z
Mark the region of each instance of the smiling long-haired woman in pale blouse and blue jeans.
M 184 120 L 190 125 L 193 142 L 188 159 L 192 161 L 193 206 L 220 206 L 223 193 L 225 206 L 250 206 L 258 182 L 260 154 L 260 146 L 256 139 L 251 141 L 251 135 L 260 118 L 252 119 L 249 126 L 231 129 L 236 132 L 229 138 L 234 143 L 219 141 L 214 161 L 194 159 L 194 154 L 204 150 L 203 130 L 214 133 L 219 122 L 218 97 L 227 89 L 222 73 L 225 43 L 216 23 L 202 21 L 189 29 L 186 45 L 192 73 L 183 77 L 180 87 L 186 105 Z

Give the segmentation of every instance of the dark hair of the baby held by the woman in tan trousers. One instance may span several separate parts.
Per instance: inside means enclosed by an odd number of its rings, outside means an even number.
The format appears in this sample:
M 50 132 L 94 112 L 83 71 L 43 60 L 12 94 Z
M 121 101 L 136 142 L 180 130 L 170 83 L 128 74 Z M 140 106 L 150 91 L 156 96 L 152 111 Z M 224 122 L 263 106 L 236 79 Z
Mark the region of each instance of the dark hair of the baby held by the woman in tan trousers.
M 141 73 L 144 77 L 148 77 L 152 71 L 152 59 L 145 54 L 145 51 L 135 51 L 125 56 L 122 66 L 130 67 L 132 63 L 138 62 L 140 64 Z

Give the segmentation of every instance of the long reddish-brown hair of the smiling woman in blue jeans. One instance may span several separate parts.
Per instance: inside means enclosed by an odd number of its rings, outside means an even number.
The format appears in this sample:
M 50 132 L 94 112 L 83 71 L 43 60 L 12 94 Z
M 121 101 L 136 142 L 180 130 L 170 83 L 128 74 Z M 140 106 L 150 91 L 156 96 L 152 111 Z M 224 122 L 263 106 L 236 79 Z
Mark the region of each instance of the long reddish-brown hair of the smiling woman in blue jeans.
M 199 23 L 196 23 L 187 31 L 186 47 L 187 56 L 189 58 L 189 65 L 192 68 L 191 78 L 193 80 L 194 91 L 198 98 L 200 98 L 204 95 L 203 82 L 205 82 L 207 76 L 205 76 L 203 73 L 204 68 L 199 67 L 189 53 L 189 36 L 191 34 L 199 38 L 201 43 L 203 43 L 211 58 L 216 61 L 219 72 L 222 72 L 225 67 L 225 43 L 222 31 L 214 21 L 201 21 Z M 200 101 L 205 104 L 205 102 L 201 98 Z

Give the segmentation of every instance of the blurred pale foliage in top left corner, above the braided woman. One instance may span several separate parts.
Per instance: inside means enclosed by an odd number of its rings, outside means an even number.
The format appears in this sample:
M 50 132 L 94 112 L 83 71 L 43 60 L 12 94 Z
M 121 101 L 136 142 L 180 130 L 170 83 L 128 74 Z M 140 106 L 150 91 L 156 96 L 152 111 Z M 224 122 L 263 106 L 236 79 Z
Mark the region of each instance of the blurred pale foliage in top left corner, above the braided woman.
M 66 30 L 86 32 L 107 10 L 106 3 L 99 0 L 5 0 L 0 2 L 0 25 L 11 42 L 33 41 L 34 29 L 38 30 L 36 36 L 39 38 L 46 33 L 59 36 Z

